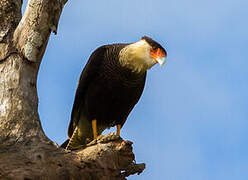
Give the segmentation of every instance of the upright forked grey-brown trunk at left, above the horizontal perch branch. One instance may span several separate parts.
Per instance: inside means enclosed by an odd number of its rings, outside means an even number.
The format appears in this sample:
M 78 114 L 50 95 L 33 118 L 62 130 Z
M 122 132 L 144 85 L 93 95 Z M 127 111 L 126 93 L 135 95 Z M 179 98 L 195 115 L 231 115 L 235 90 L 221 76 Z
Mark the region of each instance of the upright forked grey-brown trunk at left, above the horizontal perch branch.
M 57 28 L 65 2 L 29 0 L 21 18 L 22 0 L 0 1 L 0 144 L 49 141 L 38 115 L 36 82 L 50 28 Z

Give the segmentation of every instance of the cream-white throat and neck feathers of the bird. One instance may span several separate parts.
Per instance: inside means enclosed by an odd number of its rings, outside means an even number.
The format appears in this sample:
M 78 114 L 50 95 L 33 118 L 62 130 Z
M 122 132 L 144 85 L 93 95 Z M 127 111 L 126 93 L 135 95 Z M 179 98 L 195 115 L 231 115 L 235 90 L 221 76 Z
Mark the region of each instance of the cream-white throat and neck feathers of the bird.
M 150 57 L 150 49 L 151 46 L 145 40 L 127 45 L 119 53 L 120 64 L 133 72 L 144 72 L 156 64 Z

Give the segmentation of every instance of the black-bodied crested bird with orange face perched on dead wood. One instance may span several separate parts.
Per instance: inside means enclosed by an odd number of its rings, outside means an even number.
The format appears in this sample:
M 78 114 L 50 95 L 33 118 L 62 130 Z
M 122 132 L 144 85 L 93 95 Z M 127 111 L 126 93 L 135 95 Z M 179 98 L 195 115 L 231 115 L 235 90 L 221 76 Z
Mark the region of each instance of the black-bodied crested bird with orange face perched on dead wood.
M 69 139 L 61 147 L 70 150 L 86 145 L 114 126 L 120 136 L 142 95 L 147 70 L 157 63 L 162 66 L 166 57 L 166 50 L 148 36 L 134 43 L 97 48 L 80 75 L 68 127 Z

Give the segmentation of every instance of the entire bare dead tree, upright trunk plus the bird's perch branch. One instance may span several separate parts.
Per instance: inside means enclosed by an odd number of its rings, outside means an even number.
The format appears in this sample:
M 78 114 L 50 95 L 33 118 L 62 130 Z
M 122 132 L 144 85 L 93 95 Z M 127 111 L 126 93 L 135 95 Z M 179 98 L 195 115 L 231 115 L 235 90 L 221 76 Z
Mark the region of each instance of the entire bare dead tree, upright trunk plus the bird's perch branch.
M 0 179 L 125 179 L 145 168 L 129 141 L 71 152 L 42 130 L 37 74 L 66 1 L 29 0 L 23 17 L 22 0 L 0 1 Z

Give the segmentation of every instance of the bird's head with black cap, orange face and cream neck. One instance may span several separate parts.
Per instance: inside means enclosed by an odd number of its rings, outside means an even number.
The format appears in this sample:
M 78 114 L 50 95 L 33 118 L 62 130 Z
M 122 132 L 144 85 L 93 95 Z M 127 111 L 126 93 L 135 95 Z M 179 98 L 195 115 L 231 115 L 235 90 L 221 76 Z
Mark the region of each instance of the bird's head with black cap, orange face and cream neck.
M 156 63 L 162 66 L 167 53 L 165 49 L 153 39 L 144 36 L 141 40 L 124 47 L 119 54 L 122 66 L 134 72 L 144 72 Z

